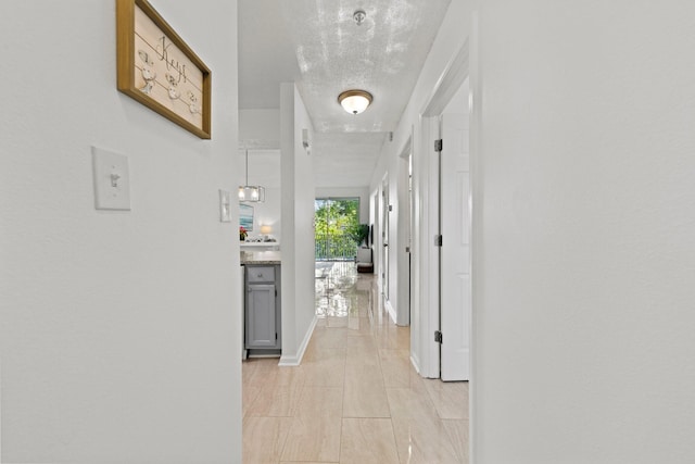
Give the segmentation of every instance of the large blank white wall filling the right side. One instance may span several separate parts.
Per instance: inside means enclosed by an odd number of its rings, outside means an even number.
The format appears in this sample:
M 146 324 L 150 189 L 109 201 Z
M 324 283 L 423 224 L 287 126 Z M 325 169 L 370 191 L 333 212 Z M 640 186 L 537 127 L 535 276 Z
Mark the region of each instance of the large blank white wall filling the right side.
M 482 2 L 475 463 L 695 462 L 693 30 Z

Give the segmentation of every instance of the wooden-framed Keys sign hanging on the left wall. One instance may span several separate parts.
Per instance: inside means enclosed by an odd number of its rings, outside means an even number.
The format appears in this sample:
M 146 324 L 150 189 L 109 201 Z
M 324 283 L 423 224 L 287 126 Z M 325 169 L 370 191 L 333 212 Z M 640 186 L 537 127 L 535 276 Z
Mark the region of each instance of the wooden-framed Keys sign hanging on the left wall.
M 116 0 L 118 90 L 211 138 L 211 71 L 147 0 Z

